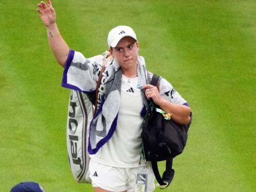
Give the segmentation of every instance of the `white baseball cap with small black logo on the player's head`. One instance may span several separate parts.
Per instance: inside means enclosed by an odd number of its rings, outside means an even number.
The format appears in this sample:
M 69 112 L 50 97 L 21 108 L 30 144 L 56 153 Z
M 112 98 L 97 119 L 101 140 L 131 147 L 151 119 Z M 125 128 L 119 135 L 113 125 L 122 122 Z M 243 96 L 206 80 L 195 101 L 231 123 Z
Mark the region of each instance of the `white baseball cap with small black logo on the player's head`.
M 132 37 L 134 40 L 137 40 L 136 34 L 134 33 L 134 30 L 125 25 L 117 26 L 113 29 L 111 29 L 107 36 L 107 44 L 110 47 L 116 47 L 117 43 L 123 38 L 123 37 Z

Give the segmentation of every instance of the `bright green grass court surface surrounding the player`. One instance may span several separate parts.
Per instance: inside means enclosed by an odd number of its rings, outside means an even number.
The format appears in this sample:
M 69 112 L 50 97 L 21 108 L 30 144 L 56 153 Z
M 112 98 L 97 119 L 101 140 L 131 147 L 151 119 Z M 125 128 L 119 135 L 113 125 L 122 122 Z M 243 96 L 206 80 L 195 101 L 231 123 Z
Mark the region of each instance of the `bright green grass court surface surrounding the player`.
M 21 181 L 47 192 L 92 191 L 69 169 L 69 90 L 60 86 L 38 2 L 0 0 L 0 191 Z M 189 102 L 188 143 L 164 191 L 256 191 L 255 1 L 52 3 L 63 38 L 88 57 L 107 49 L 111 28 L 132 26 L 148 69 Z

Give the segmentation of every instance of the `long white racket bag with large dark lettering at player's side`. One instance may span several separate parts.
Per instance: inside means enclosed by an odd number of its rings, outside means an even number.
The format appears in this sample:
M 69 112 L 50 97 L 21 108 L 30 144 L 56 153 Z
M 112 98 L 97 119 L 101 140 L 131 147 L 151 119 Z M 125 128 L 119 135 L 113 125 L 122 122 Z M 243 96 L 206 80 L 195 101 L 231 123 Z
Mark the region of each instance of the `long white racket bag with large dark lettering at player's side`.
M 67 148 L 71 171 L 78 183 L 91 183 L 89 177 L 88 137 L 94 106 L 87 94 L 70 90 L 67 122 Z

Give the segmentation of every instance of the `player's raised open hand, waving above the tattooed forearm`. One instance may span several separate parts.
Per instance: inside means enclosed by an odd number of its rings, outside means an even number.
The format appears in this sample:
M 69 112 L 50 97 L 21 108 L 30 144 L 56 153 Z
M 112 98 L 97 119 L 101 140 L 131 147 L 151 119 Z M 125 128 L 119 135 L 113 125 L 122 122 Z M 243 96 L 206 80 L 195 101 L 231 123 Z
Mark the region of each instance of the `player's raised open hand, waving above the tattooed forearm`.
M 56 13 L 52 7 L 51 1 L 47 0 L 47 4 L 45 2 L 40 2 L 37 6 L 40 8 L 37 9 L 37 12 L 40 14 L 42 22 L 46 26 L 54 24 L 56 21 Z

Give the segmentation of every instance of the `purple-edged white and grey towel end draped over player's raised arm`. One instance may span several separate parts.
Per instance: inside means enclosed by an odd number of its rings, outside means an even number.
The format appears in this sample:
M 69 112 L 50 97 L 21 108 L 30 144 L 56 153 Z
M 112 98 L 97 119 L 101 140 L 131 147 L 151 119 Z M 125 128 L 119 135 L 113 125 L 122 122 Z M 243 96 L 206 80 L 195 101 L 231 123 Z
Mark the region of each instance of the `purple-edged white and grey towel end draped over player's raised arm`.
M 94 92 L 102 68 L 102 60 L 102 55 L 85 58 L 82 53 L 70 50 L 61 86 L 86 93 Z

